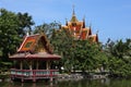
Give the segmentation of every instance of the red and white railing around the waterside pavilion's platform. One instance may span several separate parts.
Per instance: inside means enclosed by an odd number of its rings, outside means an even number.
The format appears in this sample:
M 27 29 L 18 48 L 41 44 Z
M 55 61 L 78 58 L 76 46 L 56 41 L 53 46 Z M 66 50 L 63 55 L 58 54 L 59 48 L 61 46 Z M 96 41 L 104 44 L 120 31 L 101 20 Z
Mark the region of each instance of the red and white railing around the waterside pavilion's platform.
M 59 74 L 58 70 L 16 70 L 16 69 L 11 69 L 11 77 L 53 77 Z

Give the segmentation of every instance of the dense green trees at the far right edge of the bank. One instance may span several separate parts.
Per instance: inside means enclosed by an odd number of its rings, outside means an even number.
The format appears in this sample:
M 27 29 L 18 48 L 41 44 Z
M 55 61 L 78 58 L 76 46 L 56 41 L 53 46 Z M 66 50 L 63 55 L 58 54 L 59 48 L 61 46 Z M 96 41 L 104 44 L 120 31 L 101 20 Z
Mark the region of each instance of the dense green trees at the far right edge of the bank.
M 111 75 L 131 76 L 131 39 L 127 39 L 126 42 L 109 40 L 105 52 L 108 55 L 108 67 Z

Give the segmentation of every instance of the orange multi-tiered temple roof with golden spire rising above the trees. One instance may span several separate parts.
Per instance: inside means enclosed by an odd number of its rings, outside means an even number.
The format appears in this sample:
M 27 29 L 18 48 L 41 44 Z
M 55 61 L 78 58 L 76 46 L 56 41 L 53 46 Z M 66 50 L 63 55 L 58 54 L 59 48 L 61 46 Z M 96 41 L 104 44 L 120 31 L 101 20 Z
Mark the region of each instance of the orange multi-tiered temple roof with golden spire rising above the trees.
M 97 34 L 92 34 L 92 28 L 85 26 L 85 18 L 83 21 L 79 21 L 75 16 L 75 12 L 73 9 L 72 17 L 68 22 L 66 22 L 66 25 L 62 26 L 62 28 L 69 30 L 74 39 L 79 40 L 87 40 L 92 39 L 93 42 L 98 42 L 98 35 Z

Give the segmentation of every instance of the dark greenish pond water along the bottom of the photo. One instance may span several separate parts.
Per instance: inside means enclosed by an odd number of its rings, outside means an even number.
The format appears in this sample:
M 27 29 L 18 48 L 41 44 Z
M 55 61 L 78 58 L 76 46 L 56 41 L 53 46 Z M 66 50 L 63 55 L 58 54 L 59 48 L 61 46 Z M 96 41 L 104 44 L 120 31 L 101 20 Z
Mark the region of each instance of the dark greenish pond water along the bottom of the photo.
M 0 83 L 0 87 L 130 87 L 130 79 L 81 79 L 81 80 L 66 80 L 58 83 L 19 83 L 4 82 Z

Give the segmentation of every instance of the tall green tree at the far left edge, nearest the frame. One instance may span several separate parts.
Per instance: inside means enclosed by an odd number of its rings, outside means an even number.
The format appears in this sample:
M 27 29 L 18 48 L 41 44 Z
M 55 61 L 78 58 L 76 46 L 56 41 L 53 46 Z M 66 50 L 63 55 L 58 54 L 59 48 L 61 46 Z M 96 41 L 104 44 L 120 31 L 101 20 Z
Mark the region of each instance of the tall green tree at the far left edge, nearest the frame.
M 20 41 L 17 38 L 17 16 L 13 12 L 0 9 L 0 48 L 2 57 L 8 58 L 8 53 L 15 50 L 15 45 Z

